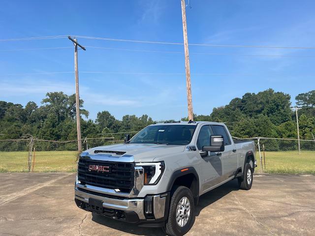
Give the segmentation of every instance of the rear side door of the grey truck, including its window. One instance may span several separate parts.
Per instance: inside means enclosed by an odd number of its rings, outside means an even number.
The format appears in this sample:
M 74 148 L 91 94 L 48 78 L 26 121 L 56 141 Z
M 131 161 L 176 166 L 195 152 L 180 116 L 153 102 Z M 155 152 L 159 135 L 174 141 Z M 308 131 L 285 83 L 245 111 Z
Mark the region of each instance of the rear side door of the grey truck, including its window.
M 220 152 L 223 161 L 223 177 L 227 179 L 235 175 L 238 167 L 237 150 L 234 142 L 229 137 L 228 131 L 223 125 L 211 125 L 214 135 L 222 135 L 224 140 L 224 151 Z M 218 153 L 220 155 L 220 153 Z

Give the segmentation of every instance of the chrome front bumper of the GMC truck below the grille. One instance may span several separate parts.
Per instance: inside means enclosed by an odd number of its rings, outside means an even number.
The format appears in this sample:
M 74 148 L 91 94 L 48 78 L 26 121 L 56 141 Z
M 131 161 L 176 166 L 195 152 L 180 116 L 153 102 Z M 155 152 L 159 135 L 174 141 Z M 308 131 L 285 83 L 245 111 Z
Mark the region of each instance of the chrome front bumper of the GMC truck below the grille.
M 115 196 L 113 196 L 112 198 L 111 195 L 108 195 L 106 190 L 102 192 L 103 194 L 101 193 L 101 191 L 97 191 L 95 192 L 95 194 L 93 194 L 93 191 L 95 191 L 94 189 L 89 189 L 85 185 L 84 188 L 81 188 L 83 190 L 81 191 L 78 186 L 80 185 L 76 184 L 75 186 L 75 199 L 78 199 L 86 204 L 89 204 L 89 198 L 101 200 L 103 202 L 104 208 L 121 210 L 121 211 L 133 211 L 137 214 L 139 220 L 148 220 L 145 214 L 146 212 L 145 198 L 128 199 L 128 198 L 123 198 L 123 197 L 115 198 Z M 98 188 L 98 190 L 100 189 L 101 188 Z M 106 195 L 106 196 L 102 196 L 102 195 Z M 158 195 L 153 196 L 152 206 L 153 206 L 153 214 L 154 214 L 155 220 L 161 219 L 164 217 L 165 204 L 166 204 L 167 197 L 168 197 L 168 193 L 158 194 Z M 152 219 L 149 219 L 149 220 L 152 220 Z

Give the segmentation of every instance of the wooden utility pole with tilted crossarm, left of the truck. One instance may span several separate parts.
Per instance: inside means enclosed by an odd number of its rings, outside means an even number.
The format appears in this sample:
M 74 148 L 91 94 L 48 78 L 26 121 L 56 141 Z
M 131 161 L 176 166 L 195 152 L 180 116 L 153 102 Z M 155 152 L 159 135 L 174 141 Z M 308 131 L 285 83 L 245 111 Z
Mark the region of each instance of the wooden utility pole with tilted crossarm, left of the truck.
M 81 122 L 80 122 L 80 96 L 79 96 L 79 72 L 78 72 L 78 46 L 84 51 L 86 50 L 83 46 L 78 44 L 77 39 L 72 39 L 70 36 L 68 38 L 74 44 L 74 70 L 75 70 L 75 110 L 77 119 L 77 139 L 78 139 L 78 151 L 82 151 L 81 143 Z

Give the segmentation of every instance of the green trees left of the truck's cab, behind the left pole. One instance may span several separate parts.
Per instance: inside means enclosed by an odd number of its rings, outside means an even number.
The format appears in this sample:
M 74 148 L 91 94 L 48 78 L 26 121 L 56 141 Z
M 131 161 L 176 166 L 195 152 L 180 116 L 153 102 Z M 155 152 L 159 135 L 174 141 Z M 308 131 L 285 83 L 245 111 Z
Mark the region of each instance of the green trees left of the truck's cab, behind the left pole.
M 75 140 L 76 106 L 75 94 L 70 96 L 63 92 L 48 92 L 38 107 L 34 102 L 28 102 L 25 108 L 21 104 L 0 101 L 0 132 L 1 139 L 20 139 L 34 137 L 45 140 Z M 83 109 L 80 99 L 80 114 L 88 118 L 89 112 Z M 138 131 L 152 124 L 152 118 L 147 115 L 136 117 L 126 115 L 118 120 L 108 111 L 99 112 L 95 122 L 92 119 L 81 118 L 82 138 L 98 137 L 104 133 Z M 123 138 L 124 134 L 122 134 Z M 119 137 L 118 137 L 119 138 Z M 49 150 L 52 147 L 44 147 Z M 43 149 L 44 150 L 44 149 Z

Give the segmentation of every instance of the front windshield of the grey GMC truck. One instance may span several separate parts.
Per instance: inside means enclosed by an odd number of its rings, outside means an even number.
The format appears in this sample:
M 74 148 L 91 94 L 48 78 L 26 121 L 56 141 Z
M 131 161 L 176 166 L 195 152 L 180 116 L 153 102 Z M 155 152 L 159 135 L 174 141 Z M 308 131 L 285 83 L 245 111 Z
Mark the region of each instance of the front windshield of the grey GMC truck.
M 136 134 L 130 143 L 187 145 L 196 125 L 153 125 Z

